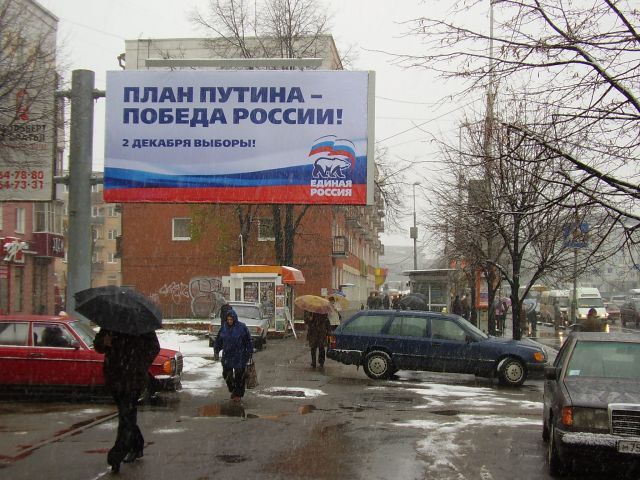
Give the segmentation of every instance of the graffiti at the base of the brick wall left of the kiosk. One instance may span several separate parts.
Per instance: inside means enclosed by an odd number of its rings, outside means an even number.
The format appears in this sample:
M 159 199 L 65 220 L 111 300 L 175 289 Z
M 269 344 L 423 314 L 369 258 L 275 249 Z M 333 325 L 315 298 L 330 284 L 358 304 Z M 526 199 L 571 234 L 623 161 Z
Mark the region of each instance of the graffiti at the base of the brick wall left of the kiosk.
M 158 297 L 169 297 L 174 304 L 190 302 L 194 317 L 206 318 L 220 310 L 226 302 L 222 280 L 215 277 L 193 277 L 189 283 L 165 283 L 157 293 Z

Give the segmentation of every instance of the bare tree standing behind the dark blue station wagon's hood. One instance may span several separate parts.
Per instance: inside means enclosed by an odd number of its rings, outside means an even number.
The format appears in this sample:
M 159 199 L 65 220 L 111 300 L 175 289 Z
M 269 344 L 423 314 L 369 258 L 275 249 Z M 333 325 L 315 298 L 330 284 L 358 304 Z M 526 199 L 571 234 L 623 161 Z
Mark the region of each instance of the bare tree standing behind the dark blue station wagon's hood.
M 576 258 L 566 229 L 594 218 L 601 208 L 569 185 L 547 181 L 543 172 L 566 172 L 571 164 L 508 123 L 492 129 L 488 160 L 482 122 L 466 124 L 463 148 L 443 145 L 452 175 L 430 187 L 437 212 L 432 231 L 445 243 L 449 258 L 464 263 L 468 273 L 483 272 L 489 305 L 500 281 L 509 284 L 513 336 L 520 339 L 522 300 L 531 287 L 545 275 L 582 271 L 598 261 L 592 254 Z M 610 227 L 595 223 L 592 238 L 597 241 Z M 495 330 L 491 309 L 489 330 Z

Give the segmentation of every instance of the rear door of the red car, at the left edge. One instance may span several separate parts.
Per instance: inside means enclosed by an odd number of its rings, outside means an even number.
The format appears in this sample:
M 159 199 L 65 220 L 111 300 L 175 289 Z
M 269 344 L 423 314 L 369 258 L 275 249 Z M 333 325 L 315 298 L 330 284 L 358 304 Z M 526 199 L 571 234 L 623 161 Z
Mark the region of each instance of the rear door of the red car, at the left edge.
M 25 384 L 30 354 L 29 322 L 0 322 L 0 384 Z

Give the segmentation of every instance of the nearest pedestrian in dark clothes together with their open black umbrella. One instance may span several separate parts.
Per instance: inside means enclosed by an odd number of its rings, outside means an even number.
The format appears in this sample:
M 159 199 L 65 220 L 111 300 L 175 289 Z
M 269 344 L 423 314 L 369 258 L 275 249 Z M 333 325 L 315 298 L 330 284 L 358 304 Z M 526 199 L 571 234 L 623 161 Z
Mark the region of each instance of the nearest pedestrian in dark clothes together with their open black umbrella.
M 162 328 L 162 312 L 141 293 L 115 285 L 81 290 L 74 297 L 76 311 L 100 326 L 93 346 L 104 354 L 105 386 L 118 407 L 118 433 L 107 454 L 117 473 L 121 462 L 143 456 L 137 405 L 160 351 L 155 330 Z

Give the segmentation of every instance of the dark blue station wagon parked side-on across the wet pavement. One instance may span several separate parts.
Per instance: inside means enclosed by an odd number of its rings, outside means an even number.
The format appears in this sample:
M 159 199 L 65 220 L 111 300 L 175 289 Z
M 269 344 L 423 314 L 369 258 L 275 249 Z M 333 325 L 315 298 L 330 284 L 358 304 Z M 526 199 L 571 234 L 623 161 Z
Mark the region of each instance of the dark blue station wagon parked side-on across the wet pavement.
M 329 336 L 327 356 L 362 365 L 373 379 L 398 370 L 497 376 L 519 386 L 547 364 L 542 345 L 532 340 L 490 337 L 458 315 L 400 310 L 363 310 Z

